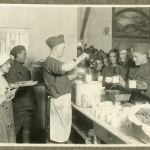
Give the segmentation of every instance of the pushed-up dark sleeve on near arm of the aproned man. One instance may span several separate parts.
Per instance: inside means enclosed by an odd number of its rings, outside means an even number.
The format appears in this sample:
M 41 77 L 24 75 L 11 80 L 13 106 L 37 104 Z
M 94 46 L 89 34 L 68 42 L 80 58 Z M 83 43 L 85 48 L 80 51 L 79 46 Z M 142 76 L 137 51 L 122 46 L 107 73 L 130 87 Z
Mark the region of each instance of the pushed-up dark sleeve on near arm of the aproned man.
M 59 60 L 54 60 L 52 62 L 47 62 L 46 64 L 46 70 L 49 73 L 52 73 L 54 75 L 62 75 L 65 74 L 65 72 L 62 71 L 62 65 L 64 62 L 61 62 Z

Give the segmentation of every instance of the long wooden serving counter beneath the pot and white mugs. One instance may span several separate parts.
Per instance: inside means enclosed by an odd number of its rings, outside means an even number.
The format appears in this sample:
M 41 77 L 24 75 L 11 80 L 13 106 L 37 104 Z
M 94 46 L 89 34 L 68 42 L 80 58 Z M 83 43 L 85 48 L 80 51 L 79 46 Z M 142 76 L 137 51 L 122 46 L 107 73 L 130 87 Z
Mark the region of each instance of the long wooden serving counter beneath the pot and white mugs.
M 131 105 L 125 103 L 124 105 Z M 72 107 L 93 122 L 94 134 L 107 144 L 143 144 L 133 133 L 132 127 L 113 128 L 105 121 L 92 115 L 92 108 L 83 108 L 72 102 Z M 99 141 L 101 142 L 101 141 Z

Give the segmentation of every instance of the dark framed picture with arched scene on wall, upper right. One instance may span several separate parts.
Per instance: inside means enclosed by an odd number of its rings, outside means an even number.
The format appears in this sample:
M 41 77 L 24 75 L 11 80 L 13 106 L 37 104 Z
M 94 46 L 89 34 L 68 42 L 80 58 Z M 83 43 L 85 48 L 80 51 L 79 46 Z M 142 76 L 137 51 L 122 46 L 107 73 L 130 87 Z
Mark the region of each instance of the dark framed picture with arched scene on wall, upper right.
M 112 12 L 113 38 L 150 38 L 149 7 L 115 7 Z

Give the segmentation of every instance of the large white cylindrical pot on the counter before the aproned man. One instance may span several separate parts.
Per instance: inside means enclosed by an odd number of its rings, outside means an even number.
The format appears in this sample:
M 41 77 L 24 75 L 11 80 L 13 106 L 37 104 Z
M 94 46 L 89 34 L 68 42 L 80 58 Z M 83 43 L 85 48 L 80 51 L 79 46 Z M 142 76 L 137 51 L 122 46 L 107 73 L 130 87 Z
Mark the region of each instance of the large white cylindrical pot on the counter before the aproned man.
M 91 81 L 76 83 L 75 85 L 75 104 L 81 107 L 91 107 L 98 105 L 101 101 L 103 91 L 102 83 Z

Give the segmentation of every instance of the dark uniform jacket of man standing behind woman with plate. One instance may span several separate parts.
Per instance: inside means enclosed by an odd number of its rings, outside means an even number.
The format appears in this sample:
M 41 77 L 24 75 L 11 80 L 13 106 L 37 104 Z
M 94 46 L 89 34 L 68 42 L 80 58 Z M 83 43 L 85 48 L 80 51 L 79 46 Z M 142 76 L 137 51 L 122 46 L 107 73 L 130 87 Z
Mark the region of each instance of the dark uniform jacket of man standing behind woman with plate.
M 16 83 L 20 81 L 31 80 L 28 69 L 22 63 L 15 61 L 11 65 L 9 72 L 6 75 L 8 83 Z M 34 96 L 33 87 L 21 87 L 16 92 L 13 102 L 14 112 L 25 110 L 33 110 L 36 108 L 36 100 Z

